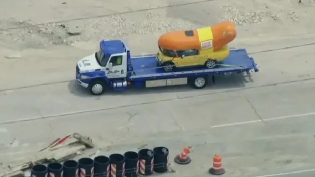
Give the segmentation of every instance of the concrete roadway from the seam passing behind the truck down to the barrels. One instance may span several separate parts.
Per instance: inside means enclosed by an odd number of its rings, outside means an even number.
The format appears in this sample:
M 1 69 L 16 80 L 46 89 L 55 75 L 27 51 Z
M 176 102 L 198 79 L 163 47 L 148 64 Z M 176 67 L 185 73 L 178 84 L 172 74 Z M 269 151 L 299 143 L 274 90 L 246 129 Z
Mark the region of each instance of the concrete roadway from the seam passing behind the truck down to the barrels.
M 215 153 L 227 176 L 312 169 L 315 72 L 311 47 L 302 49 L 253 54 L 261 71 L 252 78 L 220 78 L 201 91 L 181 86 L 92 97 L 74 82 L 3 91 L 1 159 L 19 160 L 80 132 L 104 147 L 104 155 L 166 146 L 174 157 L 193 146 L 192 163 L 174 164 L 178 173 L 166 176 L 208 175 Z

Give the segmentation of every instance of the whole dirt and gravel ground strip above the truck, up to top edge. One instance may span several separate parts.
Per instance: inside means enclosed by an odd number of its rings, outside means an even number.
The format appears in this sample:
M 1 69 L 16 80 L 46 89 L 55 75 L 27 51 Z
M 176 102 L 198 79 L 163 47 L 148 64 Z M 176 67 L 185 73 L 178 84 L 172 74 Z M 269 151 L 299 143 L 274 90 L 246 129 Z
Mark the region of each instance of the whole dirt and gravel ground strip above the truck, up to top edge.
M 133 42 L 144 38 L 140 35 L 153 37 L 226 19 L 239 25 L 238 39 L 312 34 L 313 6 L 313 0 L 96 0 L 49 4 L 5 0 L 1 2 L 0 45 L 25 50 L 113 38 L 130 37 Z M 69 36 L 69 31 L 82 34 Z

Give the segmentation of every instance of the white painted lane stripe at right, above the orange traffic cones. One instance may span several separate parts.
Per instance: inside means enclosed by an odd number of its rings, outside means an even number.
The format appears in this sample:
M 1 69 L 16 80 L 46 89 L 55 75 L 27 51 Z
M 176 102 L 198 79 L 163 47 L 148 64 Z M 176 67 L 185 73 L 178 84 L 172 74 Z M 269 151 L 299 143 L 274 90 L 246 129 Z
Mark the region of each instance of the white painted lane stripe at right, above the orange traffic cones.
M 310 115 L 315 115 L 315 112 L 268 118 L 268 119 L 263 119 L 263 121 L 267 122 L 267 121 L 273 121 L 273 120 L 279 120 L 279 119 L 289 119 L 289 118 L 304 117 L 304 116 L 310 116 Z M 257 122 L 261 122 L 261 120 L 251 120 L 251 121 L 245 121 L 245 122 L 235 122 L 235 123 L 230 123 L 230 124 L 213 125 L 211 126 L 211 128 L 228 127 L 228 126 L 251 124 L 251 123 L 257 123 Z

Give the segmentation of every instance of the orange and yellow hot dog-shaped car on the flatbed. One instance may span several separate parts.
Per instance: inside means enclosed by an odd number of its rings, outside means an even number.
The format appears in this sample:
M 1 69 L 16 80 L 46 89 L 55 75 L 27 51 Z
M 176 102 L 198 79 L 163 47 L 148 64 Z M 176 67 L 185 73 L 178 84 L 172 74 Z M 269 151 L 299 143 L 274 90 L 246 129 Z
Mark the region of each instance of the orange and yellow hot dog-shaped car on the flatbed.
M 227 44 L 235 37 L 232 21 L 195 30 L 167 32 L 158 40 L 158 60 L 165 71 L 197 65 L 213 68 L 229 55 Z

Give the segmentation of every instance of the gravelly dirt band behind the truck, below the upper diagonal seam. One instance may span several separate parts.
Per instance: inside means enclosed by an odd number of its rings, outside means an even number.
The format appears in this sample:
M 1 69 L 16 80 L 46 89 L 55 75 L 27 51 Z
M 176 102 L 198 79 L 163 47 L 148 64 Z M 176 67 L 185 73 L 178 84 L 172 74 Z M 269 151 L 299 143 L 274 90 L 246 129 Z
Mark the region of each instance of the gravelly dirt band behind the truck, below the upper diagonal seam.
M 170 30 L 193 29 L 232 20 L 238 25 L 239 37 L 257 34 L 283 35 L 314 31 L 314 0 L 244 0 L 209 1 L 172 8 L 83 19 L 65 23 L 42 24 L 13 17 L 0 20 L 0 45 L 23 48 L 47 48 L 77 42 L 128 38 L 130 35 L 162 34 Z M 294 28 L 292 25 L 295 25 Z M 7 27 L 16 29 L 6 30 Z M 272 30 L 270 30 L 272 28 Z M 315 32 L 315 31 L 314 31 Z

